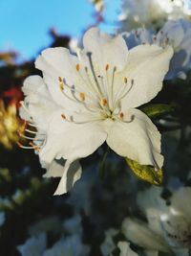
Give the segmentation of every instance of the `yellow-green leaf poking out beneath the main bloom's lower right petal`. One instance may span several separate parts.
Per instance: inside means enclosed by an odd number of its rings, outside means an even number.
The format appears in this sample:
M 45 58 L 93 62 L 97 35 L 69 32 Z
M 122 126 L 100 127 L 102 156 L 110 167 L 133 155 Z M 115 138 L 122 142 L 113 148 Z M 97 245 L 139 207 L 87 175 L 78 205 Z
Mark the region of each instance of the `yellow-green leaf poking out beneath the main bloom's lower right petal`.
M 125 158 L 127 165 L 140 179 L 143 179 L 151 184 L 160 185 L 163 179 L 161 169 L 155 169 L 153 166 L 140 165 L 137 161 Z

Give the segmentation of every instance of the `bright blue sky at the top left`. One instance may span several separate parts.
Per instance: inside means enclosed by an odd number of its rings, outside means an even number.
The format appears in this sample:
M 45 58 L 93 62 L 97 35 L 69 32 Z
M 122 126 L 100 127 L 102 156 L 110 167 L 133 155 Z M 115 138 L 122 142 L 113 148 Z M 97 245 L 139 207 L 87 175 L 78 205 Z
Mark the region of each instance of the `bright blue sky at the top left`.
M 103 29 L 112 29 L 119 2 L 106 1 L 110 25 Z M 23 59 L 32 58 L 50 44 L 50 28 L 79 36 L 94 23 L 93 13 L 88 0 L 0 0 L 0 51 L 16 50 Z

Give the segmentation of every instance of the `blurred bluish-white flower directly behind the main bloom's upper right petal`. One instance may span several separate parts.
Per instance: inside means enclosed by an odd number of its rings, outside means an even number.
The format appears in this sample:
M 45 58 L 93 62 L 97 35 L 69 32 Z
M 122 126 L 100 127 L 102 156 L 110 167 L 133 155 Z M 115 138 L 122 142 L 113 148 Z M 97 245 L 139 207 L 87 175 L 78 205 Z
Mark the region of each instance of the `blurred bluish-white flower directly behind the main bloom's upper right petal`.
M 191 68 L 191 23 L 183 19 L 169 20 L 159 30 L 158 34 L 139 28 L 123 35 L 131 49 L 139 44 L 157 44 L 161 47 L 171 45 L 174 56 L 171 59 L 169 72 L 165 80 L 174 78 L 186 79 L 186 72 Z

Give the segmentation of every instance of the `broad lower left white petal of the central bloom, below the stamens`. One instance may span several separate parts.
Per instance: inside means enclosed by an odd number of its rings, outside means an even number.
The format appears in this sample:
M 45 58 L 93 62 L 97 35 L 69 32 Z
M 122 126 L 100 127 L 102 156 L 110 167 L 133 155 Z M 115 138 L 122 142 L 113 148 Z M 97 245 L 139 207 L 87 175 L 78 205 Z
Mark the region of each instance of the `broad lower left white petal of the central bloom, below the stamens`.
M 54 158 L 77 159 L 92 154 L 106 140 L 107 134 L 97 122 L 74 124 L 61 118 L 58 111 L 53 116 L 47 132 L 47 141 L 39 156 L 51 163 Z

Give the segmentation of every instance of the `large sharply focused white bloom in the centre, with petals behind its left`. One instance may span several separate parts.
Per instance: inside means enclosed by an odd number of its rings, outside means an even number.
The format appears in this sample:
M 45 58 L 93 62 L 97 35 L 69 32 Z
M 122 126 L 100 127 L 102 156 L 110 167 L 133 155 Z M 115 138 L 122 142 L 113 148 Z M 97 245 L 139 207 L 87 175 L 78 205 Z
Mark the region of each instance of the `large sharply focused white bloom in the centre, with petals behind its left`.
M 43 51 L 35 61 L 43 79 L 32 76 L 23 87 L 21 116 L 37 128 L 31 147 L 46 176 L 62 176 L 55 195 L 80 177 L 78 159 L 104 142 L 142 165 L 158 169 L 163 163 L 159 131 L 135 107 L 159 93 L 172 49 L 141 45 L 128 51 L 121 35 L 96 28 L 84 35 L 83 45 L 77 56 L 62 47 Z

